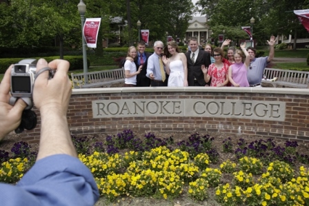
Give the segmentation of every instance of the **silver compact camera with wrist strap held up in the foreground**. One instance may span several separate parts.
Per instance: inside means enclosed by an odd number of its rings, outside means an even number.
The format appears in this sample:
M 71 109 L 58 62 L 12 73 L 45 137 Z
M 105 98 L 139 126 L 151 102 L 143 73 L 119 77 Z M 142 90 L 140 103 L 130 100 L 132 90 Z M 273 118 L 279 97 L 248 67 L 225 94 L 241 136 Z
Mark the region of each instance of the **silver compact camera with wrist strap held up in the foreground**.
M 37 72 L 36 59 L 23 59 L 19 63 L 14 64 L 11 70 L 11 97 L 10 105 L 14 105 L 17 99 L 21 98 L 27 104 L 21 116 L 21 124 L 15 130 L 21 133 L 23 130 L 32 130 L 37 125 L 37 114 L 31 110 L 33 106 L 33 85 L 34 81 L 42 72 L 49 72 L 49 79 L 54 76 L 51 68 L 42 68 Z

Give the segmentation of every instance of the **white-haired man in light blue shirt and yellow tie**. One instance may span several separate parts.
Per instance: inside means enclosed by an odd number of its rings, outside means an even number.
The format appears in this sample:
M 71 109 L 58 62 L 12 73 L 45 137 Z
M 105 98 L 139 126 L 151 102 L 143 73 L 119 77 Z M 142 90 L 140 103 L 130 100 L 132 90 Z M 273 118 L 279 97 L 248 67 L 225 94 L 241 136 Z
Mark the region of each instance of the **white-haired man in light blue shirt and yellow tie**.
M 155 52 L 148 58 L 146 76 L 151 80 L 152 87 L 166 87 L 168 85 L 168 76 L 161 59 L 163 42 L 156 41 L 153 48 Z

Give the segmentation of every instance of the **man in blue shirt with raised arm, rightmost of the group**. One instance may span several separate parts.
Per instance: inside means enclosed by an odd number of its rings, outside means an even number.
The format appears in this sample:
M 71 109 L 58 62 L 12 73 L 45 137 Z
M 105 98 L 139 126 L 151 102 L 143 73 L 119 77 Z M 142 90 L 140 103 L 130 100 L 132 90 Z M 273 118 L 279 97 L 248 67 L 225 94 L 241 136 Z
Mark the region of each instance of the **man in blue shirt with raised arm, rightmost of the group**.
M 255 48 L 252 47 L 247 48 L 247 51 L 250 55 L 250 65 L 249 70 L 247 72 L 247 79 L 250 87 L 257 87 L 261 85 L 263 72 L 268 63 L 270 63 L 270 61 L 272 61 L 272 59 L 274 59 L 275 56 L 275 49 L 274 49 L 275 42 L 276 38 L 274 36 L 270 37 L 270 41 L 267 41 L 268 45 L 270 46 L 270 50 L 269 55 L 265 57 L 255 58 L 257 50 L 255 50 Z

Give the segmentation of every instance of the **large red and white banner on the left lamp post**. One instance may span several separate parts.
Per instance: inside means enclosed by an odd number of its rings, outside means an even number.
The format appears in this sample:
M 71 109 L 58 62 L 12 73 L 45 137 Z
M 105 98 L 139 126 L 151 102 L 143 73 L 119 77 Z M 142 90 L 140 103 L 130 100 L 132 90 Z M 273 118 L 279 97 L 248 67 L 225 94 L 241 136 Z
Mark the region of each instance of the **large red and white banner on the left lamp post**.
M 100 28 L 101 18 L 86 19 L 83 24 L 83 37 L 88 48 L 97 48 L 97 38 Z

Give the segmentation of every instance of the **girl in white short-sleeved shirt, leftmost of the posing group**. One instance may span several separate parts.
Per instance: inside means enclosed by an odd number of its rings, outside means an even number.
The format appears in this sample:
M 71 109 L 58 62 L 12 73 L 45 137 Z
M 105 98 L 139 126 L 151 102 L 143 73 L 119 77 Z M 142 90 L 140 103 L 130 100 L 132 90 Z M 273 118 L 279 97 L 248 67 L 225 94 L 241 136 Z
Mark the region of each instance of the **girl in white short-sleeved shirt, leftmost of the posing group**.
M 137 85 L 137 74 L 141 72 L 141 68 L 143 67 L 143 65 L 139 66 L 139 70 L 137 70 L 137 66 L 135 65 L 134 61 L 132 61 L 132 59 L 136 59 L 136 57 L 137 49 L 134 46 L 130 46 L 130 48 L 128 49 L 126 63 L 124 63 L 124 72 L 126 75 L 126 79 L 124 81 L 123 87 L 135 87 Z

